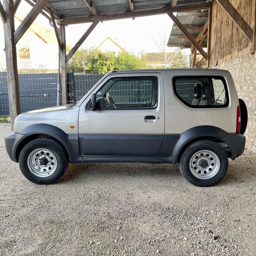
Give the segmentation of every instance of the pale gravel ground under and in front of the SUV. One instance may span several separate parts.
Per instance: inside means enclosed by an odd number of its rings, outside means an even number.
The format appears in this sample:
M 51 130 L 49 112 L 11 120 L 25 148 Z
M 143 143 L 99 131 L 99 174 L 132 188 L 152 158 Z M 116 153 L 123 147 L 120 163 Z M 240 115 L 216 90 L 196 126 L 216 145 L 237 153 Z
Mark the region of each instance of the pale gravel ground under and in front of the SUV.
M 208 188 L 178 165 L 81 163 L 36 185 L 9 160 L 0 124 L 0 255 L 256 255 L 256 154 Z

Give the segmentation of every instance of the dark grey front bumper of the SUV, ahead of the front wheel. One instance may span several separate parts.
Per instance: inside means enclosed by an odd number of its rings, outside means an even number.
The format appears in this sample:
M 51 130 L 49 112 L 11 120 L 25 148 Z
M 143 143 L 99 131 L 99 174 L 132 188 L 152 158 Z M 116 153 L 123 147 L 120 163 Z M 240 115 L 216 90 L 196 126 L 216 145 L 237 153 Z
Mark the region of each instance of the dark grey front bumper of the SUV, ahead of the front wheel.
M 4 140 L 5 148 L 9 155 L 9 158 L 16 163 L 19 162 L 19 159 L 17 159 L 17 156 L 16 156 L 17 147 L 22 141 L 22 139 L 24 138 L 24 136 L 25 136 L 24 134 L 11 132 L 9 135 L 5 137 L 5 140 Z

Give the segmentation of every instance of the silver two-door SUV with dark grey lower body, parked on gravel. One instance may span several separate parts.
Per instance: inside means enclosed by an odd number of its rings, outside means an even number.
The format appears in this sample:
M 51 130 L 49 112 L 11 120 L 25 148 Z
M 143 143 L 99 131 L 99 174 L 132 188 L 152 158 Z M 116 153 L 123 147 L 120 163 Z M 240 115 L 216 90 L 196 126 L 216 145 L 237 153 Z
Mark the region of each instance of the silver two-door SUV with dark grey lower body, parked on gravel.
M 59 180 L 68 163 L 143 162 L 179 163 L 189 182 L 211 186 L 243 153 L 246 124 L 228 71 L 124 70 L 77 104 L 22 113 L 5 145 L 37 184 Z

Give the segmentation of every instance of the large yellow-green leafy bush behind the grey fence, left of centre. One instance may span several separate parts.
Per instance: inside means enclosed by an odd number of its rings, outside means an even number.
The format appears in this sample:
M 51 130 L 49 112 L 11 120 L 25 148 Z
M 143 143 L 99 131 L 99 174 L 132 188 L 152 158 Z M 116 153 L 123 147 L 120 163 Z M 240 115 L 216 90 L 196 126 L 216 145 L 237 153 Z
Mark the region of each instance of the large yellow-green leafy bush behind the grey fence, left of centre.
M 89 74 L 106 74 L 117 69 L 142 69 L 143 67 L 143 61 L 134 54 L 121 51 L 116 55 L 115 52 L 102 52 L 93 48 L 77 50 L 67 63 L 68 69 Z

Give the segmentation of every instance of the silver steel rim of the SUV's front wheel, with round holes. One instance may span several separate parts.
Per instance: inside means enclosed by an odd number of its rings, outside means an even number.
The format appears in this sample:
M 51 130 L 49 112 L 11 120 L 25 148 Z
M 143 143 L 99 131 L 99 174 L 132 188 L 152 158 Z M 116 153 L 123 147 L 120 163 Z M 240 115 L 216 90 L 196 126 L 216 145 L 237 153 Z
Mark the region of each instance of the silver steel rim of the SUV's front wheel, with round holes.
M 41 178 L 52 175 L 58 165 L 55 154 L 46 148 L 37 148 L 30 152 L 27 163 L 30 172 Z

